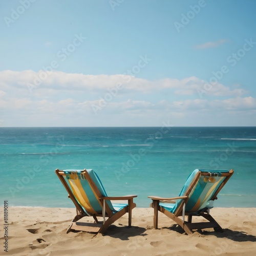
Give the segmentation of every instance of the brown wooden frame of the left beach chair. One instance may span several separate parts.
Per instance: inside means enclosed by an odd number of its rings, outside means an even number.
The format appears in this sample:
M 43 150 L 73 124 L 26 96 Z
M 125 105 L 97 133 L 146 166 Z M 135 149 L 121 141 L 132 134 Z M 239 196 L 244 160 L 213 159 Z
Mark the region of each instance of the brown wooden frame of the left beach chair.
M 72 220 L 70 227 L 67 230 L 67 233 L 71 230 L 79 230 L 79 231 L 87 231 L 87 232 L 96 232 L 96 233 L 104 233 L 106 229 L 114 223 L 116 220 L 121 218 L 126 212 L 128 212 L 128 226 L 130 227 L 132 225 L 132 209 L 136 207 L 136 204 L 133 202 L 133 199 L 137 197 L 137 195 L 128 195 L 128 196 L 122 196 L 122 197 L 103 197 L 90 177 L 89 173 L 86 169 L 82 170 L 81 174 L 85 179 L 88 180 L 88 183 L 102 208 L 102 212 L 99 212 L 97 214 L 91 214 L 88 211 L 85 211 L 84 208 L 80 205 L 80 203 L 75 198 L 70 186 L 68 185 L 67 181 L 63 176 L 66 176 L 66 174 L 63 172 L 63 170 L 56 169 L 55 173 L 57 174 L 58 178 L 60 179 L 63 186 L 68 191 L 68 197 L 73 201 L 73 203 L 76 206 L 77 209 L 77 215 Z M 123 207 L 121 210 L 117 212 L 113 212 L 109 205 L 105 203 L 105 200 L 127 200 L 128 205 Z M 86 216 L 92 216 L 95 223 L 84 223 L 77 221 L 80 220 L 83 217 Z M 107 217 L 108 219 L 103 221 L 103 223 L 100 223 L 97 219 L 97 217 Z

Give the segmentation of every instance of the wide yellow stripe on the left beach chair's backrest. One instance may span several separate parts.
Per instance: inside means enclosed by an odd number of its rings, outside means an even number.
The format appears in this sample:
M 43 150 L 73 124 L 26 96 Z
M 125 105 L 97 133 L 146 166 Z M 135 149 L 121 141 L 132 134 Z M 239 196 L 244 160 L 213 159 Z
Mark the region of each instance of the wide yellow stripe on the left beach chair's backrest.
M 84 209 L 86 209 L 86 211 L 90 212 L 91 214 L 97 214 L 97 212 L 90 204 L 89 198 L 84 192 L 80 180 L 69 179 L 68 181 L 72 187 L 74 196 L 76 197 L 77 201 L 84 207 Z

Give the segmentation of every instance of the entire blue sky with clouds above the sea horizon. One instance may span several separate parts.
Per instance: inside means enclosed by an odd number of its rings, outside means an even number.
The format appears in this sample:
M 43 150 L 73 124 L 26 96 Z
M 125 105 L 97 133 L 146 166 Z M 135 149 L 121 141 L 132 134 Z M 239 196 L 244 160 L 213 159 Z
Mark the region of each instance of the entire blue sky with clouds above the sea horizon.
M 254 0 L 0 0 L 0 127 L 256 126 Z

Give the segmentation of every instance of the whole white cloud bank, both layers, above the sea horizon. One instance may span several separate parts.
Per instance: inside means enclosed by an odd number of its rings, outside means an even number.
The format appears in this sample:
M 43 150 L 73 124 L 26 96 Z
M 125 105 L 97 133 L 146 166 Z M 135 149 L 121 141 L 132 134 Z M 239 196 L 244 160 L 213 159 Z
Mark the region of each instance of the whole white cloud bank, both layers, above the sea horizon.
M 200 98 L 197 90 L 205 82 L 194 76 L 149 81 L 124 75 L 53 72 L 30 94 L 26 83 L 35 75 L 38 72 L 31 70 L 0 72 L 1 119 L 6 126 L 143 126 L 167 119 L 174 124 L 198 119 L 203 125 L 202 121 L 210 123 L 220 116 L 225 121 L 230 113 L 254 116 L 256 110 L 256 99 L 242 97 L 245 91 L 237 85 L 229 88 L 217 83 L 207 91 L 211 98 Z M 113 88 L 122 82 L 115 94 Z M 96 112 L 93 106 L 98 106 Z

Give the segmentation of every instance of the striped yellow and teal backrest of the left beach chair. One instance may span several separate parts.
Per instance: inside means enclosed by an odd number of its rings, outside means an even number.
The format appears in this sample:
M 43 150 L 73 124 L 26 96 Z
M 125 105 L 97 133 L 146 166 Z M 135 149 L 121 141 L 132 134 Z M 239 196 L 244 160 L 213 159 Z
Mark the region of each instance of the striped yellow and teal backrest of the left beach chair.
M 62 170 L 61 172 L 63 173 L 61 176 L 65 178 L 66 184 L 71 189 L 79 205 L 82 206 L 82 208 L 89 215 L 101 214 L 103 205 L 100 198 L 106 197 L 107 195 L 98 175 L 94 172 L 94 170 L 69 169 Z M 69 191 L 69 189 L 67 190 Z M 106 200 L 106 214 L 111 215 L 114 211 L 115 210 L 111 201 Z

